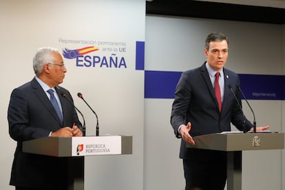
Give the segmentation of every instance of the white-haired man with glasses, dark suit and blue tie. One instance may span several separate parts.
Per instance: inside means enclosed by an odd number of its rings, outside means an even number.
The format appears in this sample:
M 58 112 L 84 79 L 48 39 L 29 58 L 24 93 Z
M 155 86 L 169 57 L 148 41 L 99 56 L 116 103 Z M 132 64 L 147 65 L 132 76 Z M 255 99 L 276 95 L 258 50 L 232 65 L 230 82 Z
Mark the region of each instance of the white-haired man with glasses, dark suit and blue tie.
M 33 60 L 32 81 L 12 91 L 8 107 L 9 133 L 17 141 L 10 184 L 17 190 L 67 189 L 67 158 L 26 154 L 22 142 L 47 136 L 83 136 L 76 110 L 61 94 L 73 103 L 67 89 L 59 87 L 65 72 L 58 50 L 40 48 Z M 59 114 L 52 105 L 47 90 L 52 89 Z

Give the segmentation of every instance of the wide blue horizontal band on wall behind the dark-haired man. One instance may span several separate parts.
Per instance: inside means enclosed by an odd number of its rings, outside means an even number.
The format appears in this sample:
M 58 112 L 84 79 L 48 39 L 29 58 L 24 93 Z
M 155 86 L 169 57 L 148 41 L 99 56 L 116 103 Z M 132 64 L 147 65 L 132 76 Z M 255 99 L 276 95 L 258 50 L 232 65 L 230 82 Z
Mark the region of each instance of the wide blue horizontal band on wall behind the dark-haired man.
M 145 98 L 174 98 L 182 72 L 145 71 Z M 240 86 L 249 100 L 284 100 L 285 76 L 239 74 Z

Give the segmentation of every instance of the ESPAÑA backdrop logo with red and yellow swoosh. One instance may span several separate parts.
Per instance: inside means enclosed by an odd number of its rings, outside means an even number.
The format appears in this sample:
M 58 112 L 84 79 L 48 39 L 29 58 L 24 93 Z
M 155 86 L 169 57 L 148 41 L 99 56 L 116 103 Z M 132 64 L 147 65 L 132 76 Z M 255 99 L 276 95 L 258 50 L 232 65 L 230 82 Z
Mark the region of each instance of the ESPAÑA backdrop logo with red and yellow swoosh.
M 74 59 L 76 67 L 127 68 L 125 60 L 126 43 L 67 39 L 59 39 L 59 43 L 81 45 L 78 49 L 69 47 L 63 49 L 63 57 Z

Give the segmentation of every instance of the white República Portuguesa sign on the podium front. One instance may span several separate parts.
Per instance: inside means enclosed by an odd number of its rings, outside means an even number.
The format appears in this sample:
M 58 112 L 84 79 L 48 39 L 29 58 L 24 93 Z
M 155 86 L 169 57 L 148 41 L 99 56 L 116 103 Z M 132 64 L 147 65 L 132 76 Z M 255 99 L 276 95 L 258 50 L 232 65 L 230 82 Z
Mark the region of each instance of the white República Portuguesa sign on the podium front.
M 120 136 L 72 138 L 72 156 L 121 154 Z

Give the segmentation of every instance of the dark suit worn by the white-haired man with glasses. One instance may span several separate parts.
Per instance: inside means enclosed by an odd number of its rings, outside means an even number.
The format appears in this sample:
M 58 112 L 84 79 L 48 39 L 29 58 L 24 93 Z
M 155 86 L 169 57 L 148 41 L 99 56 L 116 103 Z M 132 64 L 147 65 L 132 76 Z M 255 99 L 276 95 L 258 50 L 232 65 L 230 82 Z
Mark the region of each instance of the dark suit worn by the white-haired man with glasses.
M 17 141 L 10 184 L 17 187 L 66 189 L 67 158 L 25 154 L 22 142 L 47 137 L 50 131 L 76 123 L 81 127 L 74 107 L 60 96 L 72 96 L 63 87 L 56 88 L 63 109 L 63 123 L 41 85 L 35 78 L 12 91 L 8 107 L 8 123 L 11 138 Z

